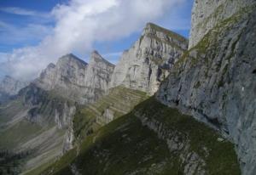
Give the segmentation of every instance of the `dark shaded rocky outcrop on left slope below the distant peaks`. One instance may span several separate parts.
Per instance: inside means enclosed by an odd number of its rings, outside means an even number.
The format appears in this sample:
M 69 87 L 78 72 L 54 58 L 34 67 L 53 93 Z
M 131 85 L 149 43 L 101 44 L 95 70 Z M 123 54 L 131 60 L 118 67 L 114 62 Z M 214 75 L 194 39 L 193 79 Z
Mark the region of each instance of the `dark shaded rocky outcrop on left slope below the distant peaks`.
M 29 109 L 26 118 L 40 126 L 67 128 L 72 122 L 76 107 L 75 102 L 63 99 L 31 84 L 19 93 L 23 104 Z

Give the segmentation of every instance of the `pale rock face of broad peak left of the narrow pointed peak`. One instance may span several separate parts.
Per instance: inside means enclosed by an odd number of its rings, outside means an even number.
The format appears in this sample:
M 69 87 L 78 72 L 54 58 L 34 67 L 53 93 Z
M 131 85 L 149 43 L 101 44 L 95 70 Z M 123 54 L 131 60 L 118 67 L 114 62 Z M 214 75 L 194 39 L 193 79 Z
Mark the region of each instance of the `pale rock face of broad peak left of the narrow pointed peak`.
M 34 83 L 46 91 L 52 90 L 79 103 L 86 103 L 84 92 L 87 87 L 84 82 L 87 67 L 88 64 L 81 59 L 67 54 L 56 65 L 49 64 Z

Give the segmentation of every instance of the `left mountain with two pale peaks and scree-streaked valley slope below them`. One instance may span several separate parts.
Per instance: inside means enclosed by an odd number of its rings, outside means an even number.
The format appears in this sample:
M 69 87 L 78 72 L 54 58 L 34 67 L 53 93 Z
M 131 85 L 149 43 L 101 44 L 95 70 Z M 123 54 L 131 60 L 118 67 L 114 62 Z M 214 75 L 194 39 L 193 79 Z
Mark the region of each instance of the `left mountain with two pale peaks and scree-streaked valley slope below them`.
M 61 156 L 78 105 L 107 93 L 113 68 L 97 52 L 91 54 L 89 64 L 67 54 L 1 105 L 0 154 L 9 151 L 6 156 L 17 156 L 9 171 L 26 172 Z M 0 167 L 2 171 L 6 170 Z

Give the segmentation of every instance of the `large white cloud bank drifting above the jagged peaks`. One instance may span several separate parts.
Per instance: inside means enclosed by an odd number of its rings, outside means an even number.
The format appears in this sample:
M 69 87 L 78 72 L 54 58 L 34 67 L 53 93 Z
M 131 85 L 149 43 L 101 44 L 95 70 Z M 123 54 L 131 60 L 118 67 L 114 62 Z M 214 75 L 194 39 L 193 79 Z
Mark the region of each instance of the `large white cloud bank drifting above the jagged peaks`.
M 55 27 L 36 47 L 9 55 L 11 76 L 32 79 L 63 54 L 87 54 L 95 42 L 113 41 L 141 30 L 186 0 L 71 0 L 51 11 Z M 32 14 L 32 13 L 20 13 Z M 6 64 L 6 63 L 5 63 Z

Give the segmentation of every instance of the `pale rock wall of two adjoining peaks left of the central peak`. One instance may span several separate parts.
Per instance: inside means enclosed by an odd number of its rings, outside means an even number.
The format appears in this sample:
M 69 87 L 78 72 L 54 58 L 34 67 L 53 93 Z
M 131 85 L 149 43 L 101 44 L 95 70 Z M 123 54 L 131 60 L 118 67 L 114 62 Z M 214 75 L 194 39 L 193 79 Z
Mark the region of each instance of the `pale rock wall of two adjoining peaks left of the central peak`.
M 34 81 L 39 88 L 54 91 L 79 104 L 93 102 L 108 89 L 114 65 L 103 59 L 96 51 L 88 65 L 73 54 L 67 54 L 57 64 L 49 64 Z

